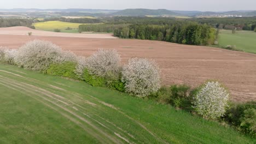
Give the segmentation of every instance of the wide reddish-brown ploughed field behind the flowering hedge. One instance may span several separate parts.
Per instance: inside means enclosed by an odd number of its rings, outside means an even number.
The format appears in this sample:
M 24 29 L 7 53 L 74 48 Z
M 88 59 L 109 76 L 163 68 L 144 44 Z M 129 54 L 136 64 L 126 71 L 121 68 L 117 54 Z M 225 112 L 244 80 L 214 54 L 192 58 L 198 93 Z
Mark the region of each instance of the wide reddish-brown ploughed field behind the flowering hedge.
M 256 100 L 256 55 L 252 53 L 164 41 L 27 35 L 0 35 L 0 45 L 18 49 L 33 39 L 52 41 L 83 56 L 99 48 L 117 49 L 124 63 L 131 57 L 152 58 L 160 65 L 163 85 L 187 83 L 195 87 L 214 79 L 230 89 L 232 100 Z

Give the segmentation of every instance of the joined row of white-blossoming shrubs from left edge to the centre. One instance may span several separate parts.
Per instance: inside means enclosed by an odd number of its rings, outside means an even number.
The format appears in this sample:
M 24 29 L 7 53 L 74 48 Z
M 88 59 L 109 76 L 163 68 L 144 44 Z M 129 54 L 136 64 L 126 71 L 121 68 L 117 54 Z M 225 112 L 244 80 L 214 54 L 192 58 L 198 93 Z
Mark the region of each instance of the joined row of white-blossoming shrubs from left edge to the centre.
M 120 55 L 116 50 L 102 50 L 90 57 L 78 57 L 71 51 L 61 48 L 49 41 L 33 40 L 21 46 L 18 50 L 8 50 L 0 47 L 0 61 L 19 67 L 44 72 L 50 64 L 71 61 L 77 63 L 74 73 L 80 80 L 84 80 L 84 70 L 101 77 L 110 79 L 120 76 Z M 146 97 L 160 88 L 160 69 L 156 63 L 146 58 L 132 58 L 124 66 L 122 81 L 126 92 Z

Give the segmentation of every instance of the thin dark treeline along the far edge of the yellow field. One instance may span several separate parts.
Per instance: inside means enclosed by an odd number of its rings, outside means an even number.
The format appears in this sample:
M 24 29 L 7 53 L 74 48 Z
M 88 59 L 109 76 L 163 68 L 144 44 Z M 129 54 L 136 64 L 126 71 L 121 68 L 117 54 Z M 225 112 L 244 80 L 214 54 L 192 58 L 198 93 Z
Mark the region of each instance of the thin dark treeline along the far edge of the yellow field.
M 65 17 L 51 17 L 43 20 L 43 22 L 45 21 L 63 21 L 63 22 L 72 22 L 72 23 L 102 23 L 102 20 L 100 19 L 88 19 L 88 18 L 70 19 Z M 36 21 L 36 22 L 40 22 L 40 21 Z

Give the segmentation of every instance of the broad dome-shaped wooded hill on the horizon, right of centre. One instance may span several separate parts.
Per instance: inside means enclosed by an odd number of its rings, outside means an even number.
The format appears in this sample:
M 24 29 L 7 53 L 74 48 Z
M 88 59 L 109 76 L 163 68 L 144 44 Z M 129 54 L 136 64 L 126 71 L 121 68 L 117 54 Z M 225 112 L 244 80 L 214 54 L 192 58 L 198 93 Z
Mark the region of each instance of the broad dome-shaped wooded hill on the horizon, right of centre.
M 146 16 L 146 15 L 181 15 L 174 13 L 173 11 L 166 9 L 125 9 L 116 13 L 112 13 L 113 16 Z

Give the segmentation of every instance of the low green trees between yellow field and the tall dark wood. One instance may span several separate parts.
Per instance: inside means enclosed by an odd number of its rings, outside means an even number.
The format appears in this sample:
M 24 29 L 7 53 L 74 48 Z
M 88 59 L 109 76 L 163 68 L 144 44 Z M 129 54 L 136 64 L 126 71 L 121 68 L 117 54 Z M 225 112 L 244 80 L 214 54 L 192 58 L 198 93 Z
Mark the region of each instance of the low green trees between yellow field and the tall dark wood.
M 78 27 L 79 32 L 97 32 L 97 33 L 112 33 L 115 29 L 127 27 L 127 24 L 98 24 L 98 25 L 80 25 Z

